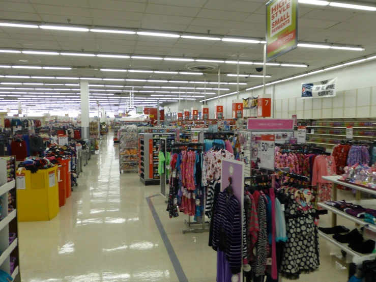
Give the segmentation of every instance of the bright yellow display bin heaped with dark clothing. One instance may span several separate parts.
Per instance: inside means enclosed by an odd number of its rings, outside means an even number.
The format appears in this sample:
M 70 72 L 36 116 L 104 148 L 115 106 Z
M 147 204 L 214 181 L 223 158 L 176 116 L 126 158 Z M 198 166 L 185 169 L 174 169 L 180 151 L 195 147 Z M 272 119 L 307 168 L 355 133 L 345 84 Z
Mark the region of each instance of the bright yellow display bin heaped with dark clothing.
M 23 179 L 24 177 L 24 184 Z M 32 174 L 17 174 L 18 221 L 51 220 L 59 213 L 59 183 L 57 165 Z

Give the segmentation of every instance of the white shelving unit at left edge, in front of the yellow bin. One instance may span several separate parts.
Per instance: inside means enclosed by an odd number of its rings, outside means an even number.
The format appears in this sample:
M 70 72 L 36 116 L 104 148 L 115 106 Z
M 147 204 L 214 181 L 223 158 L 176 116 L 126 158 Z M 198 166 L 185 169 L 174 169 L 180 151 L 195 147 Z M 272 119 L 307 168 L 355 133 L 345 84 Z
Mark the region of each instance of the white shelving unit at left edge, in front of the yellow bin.
M 14 169 L 16 168 L 14 167 Z M 14 197 L 16 197 L 16 181 L 7 181 L 7 160 L 0 156 L 0 197 L 3 203 L 1 215 L 4 217 L 0 221 L 0 269 L 9 273 L 13 277 L 13 281 L 20 282 L 18 238 L 9 244 L 10 232 L 15 233 L 18 237 L 17 199 L 15 199 L 14 203 L 15 209 L 8 213 L 8 192 L 13 189 L 12 192 L 14 192 Z M 13 273 L 10 271 L 10 257 L 16 258 L 17 266 Z

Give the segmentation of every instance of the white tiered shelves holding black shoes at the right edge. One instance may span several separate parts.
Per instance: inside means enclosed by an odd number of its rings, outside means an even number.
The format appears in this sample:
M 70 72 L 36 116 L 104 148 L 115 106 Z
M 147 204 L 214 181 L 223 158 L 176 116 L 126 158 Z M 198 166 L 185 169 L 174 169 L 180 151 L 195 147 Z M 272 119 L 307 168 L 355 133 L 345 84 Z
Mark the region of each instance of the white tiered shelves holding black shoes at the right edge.
M 345 187 L 355 189 L 356 190 L 356 201 L 353 202 L 356 205 L 360 205 L 363 208 L 369 208 L 369 209 L 376 209 L 376 199 L 375 200 L 360 200 L 361 199 L 361 192 L 366 192 L 370 193 L 373 195 L 376 195 L 376 190 L 370 189 L 370 188 L 365 188 L 361 187 L 359 185 L 351 184 L 351 183 L 346 183 L 343 181 L 340 181 L 339 179 L 341 176 L 333 175 L 333 176 L 324 176 L 323 179 L 330 181 L 333 183 L 333 188 L 332 188 L 332 201 L 337 201 L 337 186 L 338 185 L 343 185 Z M 319 207 L 326 209 L 330 212 L 332 212 L 332 227 L 335 227 L 337 225 L 337 216 L 341 216 L 343 218 L 346 218 L 348 220 L 351 220 L 355 222 L 357 225 L 360 225 L 361 227 L 364 227 L 363 235 L 371 240 L 376 240 L 376 225 L 370 224 L 368 222 L 365 222 L 361 220 L 358 217 L 352 216 L 350 214 L 347 214 L 341 210 L 338 210 L 330 205 L 326 205 L 325 203 L 319 203 Z M 336 247 L 340 248 L 342 250 L 342 255 L 349 254 L 351 255 L 352 262 L 355 264 L 361 264 L 365 260 L 373 259 L 373 257 L 376 258 L 375 254 L 372 255 L 364 255 L 362 253 L 354 251 L 352 248 L 349 247 L 348 244 L 343 244 L 335 239 L 333 239 L 332 235 L 327 235 L 321 231 L 319 231 L 319 235 L 327 240 L 328 242 L 332 243 Z

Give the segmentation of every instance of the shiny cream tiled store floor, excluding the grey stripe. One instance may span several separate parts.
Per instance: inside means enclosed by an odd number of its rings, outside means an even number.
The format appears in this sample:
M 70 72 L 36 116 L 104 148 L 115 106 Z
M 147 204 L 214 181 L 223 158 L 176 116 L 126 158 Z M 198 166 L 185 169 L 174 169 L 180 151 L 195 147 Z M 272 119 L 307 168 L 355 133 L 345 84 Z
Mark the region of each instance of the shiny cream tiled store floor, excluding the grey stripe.
M 179 281 L 146 201 L 159 186 L 120 175 L 112 139 L 100 141 L 78 184 L 53 220 L 19 223 L 22 281 Z M 151 201 L 188 281 L 214 282 L 216 252 L 208 247 L 208 233 L 183 234 L 186 216 L 170 219 L 160 195 Z M 329 216 L 320 225 L 329 226 Z M 347 281 L 338 249 L 321 241 L 320 255 L 320 270 L 299 281 Z

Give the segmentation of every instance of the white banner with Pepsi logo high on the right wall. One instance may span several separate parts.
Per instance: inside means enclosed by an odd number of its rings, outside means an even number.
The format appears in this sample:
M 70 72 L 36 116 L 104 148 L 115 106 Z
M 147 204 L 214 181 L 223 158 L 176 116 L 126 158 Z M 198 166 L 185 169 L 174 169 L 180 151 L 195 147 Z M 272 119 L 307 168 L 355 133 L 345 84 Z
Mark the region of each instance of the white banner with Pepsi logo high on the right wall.
M 327 98 L 336 95 L 337 77 L 309 83 L 302 83 L 302 99 Z

